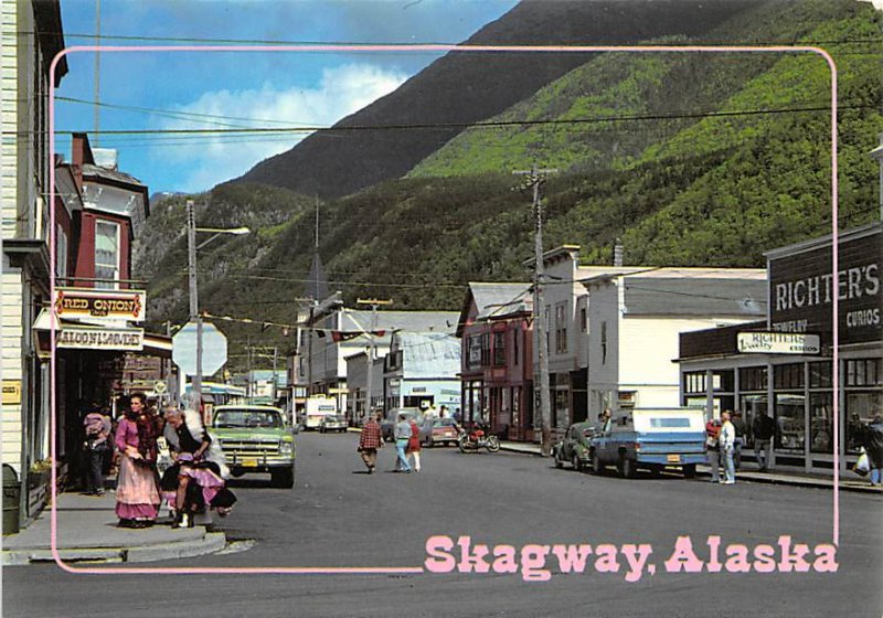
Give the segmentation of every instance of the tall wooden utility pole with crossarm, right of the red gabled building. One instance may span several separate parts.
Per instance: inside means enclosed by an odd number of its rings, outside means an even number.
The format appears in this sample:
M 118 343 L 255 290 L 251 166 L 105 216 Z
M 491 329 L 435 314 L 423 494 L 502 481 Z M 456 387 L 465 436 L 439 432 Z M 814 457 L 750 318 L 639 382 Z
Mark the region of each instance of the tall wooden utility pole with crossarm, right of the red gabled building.
M 543 209 L 540 201 L 540 187 L 545 182 L 545 174 L 556 173 L 556 169 L 518 170 L 512 173 L 525 175 L 525 187 L 533 189 L 533 211 L 536 216 L 534 228 L 534 268 L 533 268 L 533 342 L 538 354 L 538 366 L 534 388 L 540 391 L 540 429 L 542 441 L 540 450 L 547 457 L 552 452 L 552 405 L 549 394 L 549 340 L 543 323 Z

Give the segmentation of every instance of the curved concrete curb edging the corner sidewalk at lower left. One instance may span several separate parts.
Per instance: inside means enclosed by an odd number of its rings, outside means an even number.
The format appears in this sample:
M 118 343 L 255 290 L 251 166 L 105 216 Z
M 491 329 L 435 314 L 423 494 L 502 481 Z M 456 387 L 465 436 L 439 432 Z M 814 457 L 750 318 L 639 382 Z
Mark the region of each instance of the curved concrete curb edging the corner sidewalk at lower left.
M 198 541 L 177 541 L 136 547 L 71 547 L 60 548 L 57 553 L 65 563 L 141 563 L 202 556 L 220 552 L 225 546 L 226 535 L 223 532 L 210 532 Z M 52 550 L 46 548 L 4 550 L 2 553 L 3 566 L 54 562 Z

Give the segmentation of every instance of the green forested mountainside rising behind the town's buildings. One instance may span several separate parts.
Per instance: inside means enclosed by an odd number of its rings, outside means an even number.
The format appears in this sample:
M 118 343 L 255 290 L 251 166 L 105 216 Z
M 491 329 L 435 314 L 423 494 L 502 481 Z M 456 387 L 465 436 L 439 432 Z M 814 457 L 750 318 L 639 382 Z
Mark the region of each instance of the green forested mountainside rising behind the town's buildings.
M 839 79 L 842 227 L 872 221 L 879 207 L 869 152 L 883 126 L 882 21 L 866 3 L 773 1 L 745 7 L 701 36 L 830 51 Z M 683 34 L 647 42 L 672 41 L 696 42 Z M 319 253 L 331 289 L 348 302 L 392 298 L 395 309 L 456 310 L 469 280 L 526 280 L 531 195 L 513 191 L 511 170 L 533 162 L 558 168 L 543 191 L 545 247 L 579 244 L 596 264 L 611 259 L 618 238 L 627 264 L 763 266 L 765 251 L 830 230 L 830 73 L 822 58 L 584 60 L 406 172 L 321 201 Z M 182 204 L 182 196 L 157 204 L 149 223 L 158 231 L 142 241 L 137 275 L 151 281 L 155 324 L 187 317 Z M 234 367 L 246 342 L 285 350 L 292 331 L 259 324 L 297 320 L 316 199 L 234 182 L 198 204 L 200 222 L 257 231 L 200 252 L 201 307 L 230 318 L 217 323 L 231 339 Z

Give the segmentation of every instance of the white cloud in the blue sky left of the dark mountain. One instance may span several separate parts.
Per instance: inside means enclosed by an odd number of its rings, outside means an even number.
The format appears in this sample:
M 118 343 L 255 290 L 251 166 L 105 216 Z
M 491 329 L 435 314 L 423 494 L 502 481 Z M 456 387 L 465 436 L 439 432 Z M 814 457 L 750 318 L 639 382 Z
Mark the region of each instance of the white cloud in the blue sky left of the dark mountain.
M 331 126 L 393 92 L 407 75 L 370 64 L 347 64 L 326 68 L 315 88 L 280 89 L 265 83 L 259 89 L 215 90 L 195 102 L 177 107 L 187 114 L 220 116 L 213 119 L 235 127 L 311 127 Z M 254 119 L 252 121 L 242 118 Z M 164 119 L 164 129 L 214 128 L 205 120 Z M 217 127 L 221 129 L 233 127 Z M 153 158 L 166 166 L 182 166 L 185 180 L 178 191 L 196 192 L 219 182 L 242 175 L 255 163 L 289 150 L 308 134 L 264 136 L 200 136 L 174 139 L 183 146 L 155 147 Z M 193 141 L 194 143 L 187 143 Z

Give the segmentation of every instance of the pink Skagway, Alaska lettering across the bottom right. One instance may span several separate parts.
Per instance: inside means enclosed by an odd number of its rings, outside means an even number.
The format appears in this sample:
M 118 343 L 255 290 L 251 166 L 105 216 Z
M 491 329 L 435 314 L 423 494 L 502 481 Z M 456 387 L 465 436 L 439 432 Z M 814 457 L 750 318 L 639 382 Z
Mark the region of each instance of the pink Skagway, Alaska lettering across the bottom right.
M 647 543 L 623 545 L 514 545 L 472 544 L 470 536 L 430 536 L 426 540 L 424 566 L 430 573 L 520 573 L 525 582 L 547 582 L 558 573 L 621 573 L 626 582 L 655 575 L 653 547 Z M 776 544 L 721 545 L 709 536 L 694 547 L 690 536 L 679 536 L 662 562 L 666 573 L 836 573 L 837 547 L 819 544 L 810 550 L 781 535 Z

